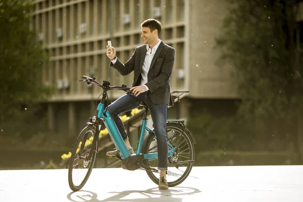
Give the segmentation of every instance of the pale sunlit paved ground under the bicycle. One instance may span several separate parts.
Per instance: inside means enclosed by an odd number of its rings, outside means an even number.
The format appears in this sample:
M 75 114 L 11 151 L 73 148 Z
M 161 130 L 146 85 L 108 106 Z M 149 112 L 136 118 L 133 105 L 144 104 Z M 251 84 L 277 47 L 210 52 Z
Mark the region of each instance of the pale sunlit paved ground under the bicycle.
M 0 201 L 303 201 L 303 166 L 194 167 L 179 186 L 159 191 L 145 171 L 94 169 L 72 192 L 66 169 L 0 171 Z

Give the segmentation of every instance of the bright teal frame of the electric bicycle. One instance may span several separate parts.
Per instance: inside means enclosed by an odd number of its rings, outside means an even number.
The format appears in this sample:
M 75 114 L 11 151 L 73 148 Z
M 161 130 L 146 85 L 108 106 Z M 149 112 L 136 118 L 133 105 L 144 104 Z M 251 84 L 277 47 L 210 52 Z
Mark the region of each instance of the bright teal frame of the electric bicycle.
M 113 121 L 110 113 L 105 110 L 105 106 L 103 103 L 100 103 L 97 107 L 97 112 L 96 115 L 99 119 L 103 119 L 105 126 L 107 127 L 109 134 L 115 144 L 115 146 L 117 147 L 119 153 L 120 153 L 120 157 L 121 159 L 127 159 L 129 156 L 136 156 L 136 155 L 142 155 L 141 154 L 141 148 L 142 148 L 142 143 L 143 143 L 143 138 L 144 138 L 144 133 L 145 131 L 149 132 L 149 133 L 154 133 L 155 132 L 148 128 L 146 126 L 146 122 L 147 122 L 147 109 L 145 109 L 145 114 L 142 120 L 142 127 L 141 127 L 141 131 L 140 131 L 140 136 L 139 136 L 139 141 L 138 141 L 138 146 L 137 146 L 137 150 L 136 153 L 133 155 L 130 155 L 124 140 L 117 128 L 116 123 Z M 168 145 L 171 147 L 171 149 L 168 151 L 168 158 L 171 158 L 174 154 L 175 148 L 173 147 L 173 145 L 171 145 L 168 142 Z M 147 160 L 156 160 L 158 159 L 158 153 L 150 153 L 150 154 L 143 154 L 143 159 L 147 159 Z

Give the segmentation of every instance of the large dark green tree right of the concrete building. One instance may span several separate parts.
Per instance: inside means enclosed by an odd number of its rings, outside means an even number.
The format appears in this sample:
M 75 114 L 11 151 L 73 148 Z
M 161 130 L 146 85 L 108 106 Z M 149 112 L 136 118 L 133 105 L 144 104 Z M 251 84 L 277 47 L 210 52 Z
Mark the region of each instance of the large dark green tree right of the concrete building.
M 231 6 L 217 39 L 222 50 L 218 64 L 233 64 L 242 100 L 238 115 L 255 124 L 256 138 L 264 149 L 274 138 L 287 142 L 290 149 L 300 149 L 296 144 L 303 124 L 299 1 L 228 2 Z

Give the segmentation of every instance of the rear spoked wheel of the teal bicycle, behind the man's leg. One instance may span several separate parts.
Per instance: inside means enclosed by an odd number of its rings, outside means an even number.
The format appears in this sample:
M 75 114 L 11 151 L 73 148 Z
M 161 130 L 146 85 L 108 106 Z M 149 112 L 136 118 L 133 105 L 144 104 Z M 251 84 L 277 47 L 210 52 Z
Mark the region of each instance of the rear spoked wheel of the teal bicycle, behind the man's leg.
M 166 126 L 166 135 L 168 142 L 173 144 L 176 149 L 175 154 L 172 157 L 172 160 L 175 162 L 181 161 L 192 161 L 194 160 L 194 146 L 193 141 L 188 135 L 187 131 L 184 130 L 184 127 L 180 124 L 168 123 Z M 171 149 L 171 146 L 168 146 L 168 150 Z M 157 152 L 157 139 L 156 134 L 149 135 L 146 139 L 143 148 L 143 154 Z M 156 160 L 144 160 L 144 164 L 149 168 L 158 168 L 158 159 Z M 182 163 L 182 164 L 171 164 L 168 161 L 167 168 L 167 183 L 169 187 L 176 186 L 183 182 L 189 175 L 193 164 Z M 146 171 L 148 177 L 159 184 L 160 173 Z

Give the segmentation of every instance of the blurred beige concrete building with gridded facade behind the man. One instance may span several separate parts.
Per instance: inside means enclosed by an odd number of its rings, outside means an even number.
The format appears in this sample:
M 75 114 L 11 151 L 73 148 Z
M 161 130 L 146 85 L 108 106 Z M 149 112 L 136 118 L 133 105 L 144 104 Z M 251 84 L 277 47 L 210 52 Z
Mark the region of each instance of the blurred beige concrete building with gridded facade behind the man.
M 232 105 L 237 98 L 229 66 L 219 68 L 214 63 L 219 55 L 214 49 L 215 38 L 226 14 L 223 1 L 36 0 L 35 3 L 31 28 L 38 32 L 38 40 L 50 56 L 42 80 L 55 88 L 45 103 L 50 130 L 74 133 L 92 116 L 91 109 L 95 109 L 96 98 L 102 91 L 80 83 L 82 75 L 108 80 L 112 85 L 131 85 L 133 74 L 120 76 L 109 67 L 107 41 L 112 40 L 117 56 L 126 62 L 134 48 L 143 43 L 140 24 L 148 18 L 161 21 L 160 38 L 176 49 L 171 89 L 190 91 L 181 102 L 182 117 L 188 115 L 191 105 L 217 108 L 228 100 Z M 110 98 L 114 100 L 122 94 L 114 91 Z

